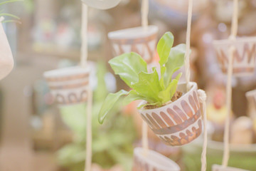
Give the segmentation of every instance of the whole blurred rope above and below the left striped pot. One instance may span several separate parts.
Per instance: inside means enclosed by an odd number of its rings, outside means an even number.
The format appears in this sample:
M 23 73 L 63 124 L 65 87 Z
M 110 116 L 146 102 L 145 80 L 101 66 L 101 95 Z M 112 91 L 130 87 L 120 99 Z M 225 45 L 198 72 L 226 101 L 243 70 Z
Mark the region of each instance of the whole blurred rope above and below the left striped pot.
M 82 2 L 82 27 L 81 27 L 81 57 L 80 65 L 82 68 L 87 65 L 87 23 L 88 23 L 88 6 Z M 87 117 L 86 117 L 86 157 L 85 171 L 90 171 L 92 167 L 92 89 L 90 84 L 87 90 Z

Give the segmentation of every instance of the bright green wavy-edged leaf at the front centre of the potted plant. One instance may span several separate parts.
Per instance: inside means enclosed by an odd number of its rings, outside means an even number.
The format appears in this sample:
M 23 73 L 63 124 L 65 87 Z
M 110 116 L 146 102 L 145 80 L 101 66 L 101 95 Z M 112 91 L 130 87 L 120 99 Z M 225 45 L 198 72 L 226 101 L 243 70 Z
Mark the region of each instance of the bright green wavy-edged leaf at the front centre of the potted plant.
M 161 86 L 156 70 L 152 73 L 139 73 L 139 82 L 132 84 L 132 88 L 148 100 L 153 102 L 160 100 L 158 94 L 161 91 Z

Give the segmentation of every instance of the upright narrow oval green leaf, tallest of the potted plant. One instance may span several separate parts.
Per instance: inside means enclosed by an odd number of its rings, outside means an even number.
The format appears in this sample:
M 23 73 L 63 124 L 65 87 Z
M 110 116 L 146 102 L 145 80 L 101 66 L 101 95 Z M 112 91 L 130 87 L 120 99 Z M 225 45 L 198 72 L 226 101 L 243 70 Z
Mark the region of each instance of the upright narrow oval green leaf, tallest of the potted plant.
M 157 53 L 160 58 L 160 66 L 164 66 L 164 64 L 168 61 L 168 57 L 171 51 L 171 47 L 174 45 L 174 35 L 171 32 L 164 33 L 157 43 Z

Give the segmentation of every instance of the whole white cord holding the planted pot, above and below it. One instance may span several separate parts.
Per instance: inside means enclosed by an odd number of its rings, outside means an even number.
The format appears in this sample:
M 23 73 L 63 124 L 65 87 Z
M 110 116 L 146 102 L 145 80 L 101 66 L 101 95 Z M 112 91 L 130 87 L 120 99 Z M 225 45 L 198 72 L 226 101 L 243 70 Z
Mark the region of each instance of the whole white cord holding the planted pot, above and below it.
M 185 73 L 186 73 L 186 84 L 187 91 L 190 90 L 190 53 L 191 53 L 191 21 L 192 21 L 192 11 L 193 11 L 193 0 L 188 0 L 188 23 L 186 31 L 186 53 L 185 53 Z M 198 90 L 198 98 L 200 103 L 203 105 L 203 151 L 201 154 L 201 171 L 206 171 L 206 149 L 207 149 L 207 118 L 206 118 L 206 93 L 204 90 Z

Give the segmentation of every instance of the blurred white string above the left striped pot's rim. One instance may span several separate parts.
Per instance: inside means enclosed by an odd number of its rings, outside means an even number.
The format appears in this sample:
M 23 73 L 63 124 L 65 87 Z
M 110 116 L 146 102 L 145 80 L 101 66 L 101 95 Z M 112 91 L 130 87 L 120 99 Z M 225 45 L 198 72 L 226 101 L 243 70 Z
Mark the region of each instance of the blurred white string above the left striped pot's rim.
M 81 57 L 80 57 L 80 65 L 85 68 L 87 64 L 87 23 L 88 23 L 88 6 L 85 3 L 82 3 L 82 26 L 81 26 Z

